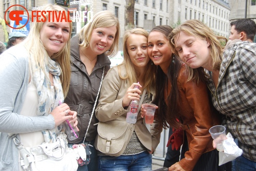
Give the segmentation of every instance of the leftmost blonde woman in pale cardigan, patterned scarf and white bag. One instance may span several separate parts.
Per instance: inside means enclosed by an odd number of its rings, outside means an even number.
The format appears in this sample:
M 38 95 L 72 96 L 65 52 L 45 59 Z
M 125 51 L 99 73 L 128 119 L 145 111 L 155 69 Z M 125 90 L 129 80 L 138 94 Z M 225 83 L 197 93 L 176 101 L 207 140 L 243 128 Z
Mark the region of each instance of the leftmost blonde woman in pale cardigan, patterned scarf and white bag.
M 44 10 L 68 17 L 57 5 Z M 0 57 L 0 170 L 77 169 L 62 127 L 70 120 L 77 128 L 77 112 L 62 104 L 70 82 L 72 23 L 46 17 L 46 22 L 34 23 L 24 42 Z

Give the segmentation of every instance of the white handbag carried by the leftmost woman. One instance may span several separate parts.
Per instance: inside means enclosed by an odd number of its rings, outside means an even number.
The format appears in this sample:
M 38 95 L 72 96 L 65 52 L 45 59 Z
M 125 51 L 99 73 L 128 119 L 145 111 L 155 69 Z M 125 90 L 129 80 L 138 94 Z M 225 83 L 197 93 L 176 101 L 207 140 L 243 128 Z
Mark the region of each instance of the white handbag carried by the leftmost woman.
M 48 130 L 50 131 L 50 130 Z M 26 170 L 77 170 L 75 152 L 66 148 L 66 137 L 60 133 L 55 142 L 46 142 L 34 147 L 24 148 L 16 134 L 9 135 L 20 154 L 20 166 Z

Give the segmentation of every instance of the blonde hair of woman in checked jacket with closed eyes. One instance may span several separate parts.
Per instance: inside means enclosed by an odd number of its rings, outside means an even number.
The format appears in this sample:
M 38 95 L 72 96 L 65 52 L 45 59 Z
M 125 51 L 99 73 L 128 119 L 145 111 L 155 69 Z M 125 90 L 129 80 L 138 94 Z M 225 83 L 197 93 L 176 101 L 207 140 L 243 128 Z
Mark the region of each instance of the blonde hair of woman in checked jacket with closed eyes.
M 200 39 L 206 40 L 210 43 L 210 60 L 209 66 L 212 66 L 214 70 L 219 70 L 221 61 L 222 61 L 222 52 L 224 45 L 227 42 L 227 39 L 223 36 L 218 36 L 212 31 L 209 27 L 207 27 L 202 21 L 200 20 L 187 20 L 182 23 L 180 26 L 175 28 L 172 33 L 169 34 L 169 44 L 172 48 L 172 51 L 179 56 L 178 52 L 175 49 L 175 41 L 174 39 L 177 37 L 179 38 L 180 32 L 185 32 L 190 36 L 195 36 Z M 188 69 L 189 78 L 198 80 L 198 69 L 192 69 L 189 67 Z

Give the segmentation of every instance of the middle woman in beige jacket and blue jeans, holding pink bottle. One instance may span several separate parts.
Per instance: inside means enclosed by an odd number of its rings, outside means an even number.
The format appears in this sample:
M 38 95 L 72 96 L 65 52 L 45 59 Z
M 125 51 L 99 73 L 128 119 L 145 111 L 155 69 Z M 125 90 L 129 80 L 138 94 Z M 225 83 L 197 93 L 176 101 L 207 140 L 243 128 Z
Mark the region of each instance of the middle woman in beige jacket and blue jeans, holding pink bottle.
M 140 95 L 145 91 L 143 103 L 150 103 L 155 94 L 155 65 L 150 62 L 147 54 L 147 32 L 143 29 L 126 31 L 123 36 L 123 62 L 111 68 L 105 76 L 96 108 L 96 117 L 101 122 L 114 121 L 126 125 L 127 107 L 132 100 L 140 101 Z M 139 84 L 137 83 L 139 82 Z M 134 86 L 139 89 L 134 89 Z M 157 120 L 155 123 L 157 125 Z M 154 126 L 154 125 L 153 125 Z M 131 127 L 131 128 L 130 128 Z M 113 125 L 113 129 L 121 129 Z M 143 170 L 152 169 L 152 153 L 160 140 L 159 130 L 147 130 L 140 112 L 136 124 L 131 124 L 132 130 L 124 143 L 120 156 L 114 157 L 99 152 L 98 169 L 105 170 Z M 97 141 L 95 146 L 97 146 Z M 111 148 L 111 147 L 110 147 Z M 136 162 L 133 159 L 136 158 Z

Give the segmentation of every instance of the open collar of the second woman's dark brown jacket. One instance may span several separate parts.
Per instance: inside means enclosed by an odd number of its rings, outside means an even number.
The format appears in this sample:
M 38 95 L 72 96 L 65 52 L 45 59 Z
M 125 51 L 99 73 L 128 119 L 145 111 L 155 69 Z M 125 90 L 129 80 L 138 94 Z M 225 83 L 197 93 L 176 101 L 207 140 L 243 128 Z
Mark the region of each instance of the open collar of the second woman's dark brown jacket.
M 81 41 L 79 40 L 79 35 L 76 34 L 74 37 L 71 38 L 70 40 L 70 43 L 71 43 L 71 61 L 74 63 L 74 64 L 78 64 L 80 65 L 80 63 L 82 62 L 81 59 L 80 59 L 80 54 L 79 54 L 79 43 Z M 106 56 L 104 53 L 103 54 L 100 54 L 98 55 L 98 59 L 97 59 L 97 62 L 95 64 L 95 68 L 101 68 L 105 65 L 110 65 L 111 62 L 110 62 L 110 59 L 108 56 Z

